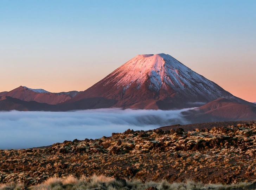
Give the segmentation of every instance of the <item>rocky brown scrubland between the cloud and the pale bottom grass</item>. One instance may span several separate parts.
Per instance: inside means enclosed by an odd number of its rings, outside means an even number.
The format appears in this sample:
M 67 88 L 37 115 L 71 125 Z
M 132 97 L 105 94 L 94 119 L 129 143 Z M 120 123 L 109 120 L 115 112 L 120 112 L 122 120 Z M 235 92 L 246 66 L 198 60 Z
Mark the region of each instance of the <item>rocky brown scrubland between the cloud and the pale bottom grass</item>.
M 27 186 L 51 176 L 239 183 L 256 179 L 256 123 L 184 131 L 156 129 L 113 133 L 49 148 L 0 150 L 0 183 Z

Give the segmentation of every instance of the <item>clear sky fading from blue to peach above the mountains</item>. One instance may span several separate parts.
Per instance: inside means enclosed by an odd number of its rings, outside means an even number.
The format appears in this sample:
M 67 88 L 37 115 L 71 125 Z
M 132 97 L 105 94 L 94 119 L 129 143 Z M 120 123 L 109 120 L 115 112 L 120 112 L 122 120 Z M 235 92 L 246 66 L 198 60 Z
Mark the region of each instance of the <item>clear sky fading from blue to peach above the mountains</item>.
M 0 91 L 85 90 L 165 53 L 256 102 L 255 0 L 0 0 Z

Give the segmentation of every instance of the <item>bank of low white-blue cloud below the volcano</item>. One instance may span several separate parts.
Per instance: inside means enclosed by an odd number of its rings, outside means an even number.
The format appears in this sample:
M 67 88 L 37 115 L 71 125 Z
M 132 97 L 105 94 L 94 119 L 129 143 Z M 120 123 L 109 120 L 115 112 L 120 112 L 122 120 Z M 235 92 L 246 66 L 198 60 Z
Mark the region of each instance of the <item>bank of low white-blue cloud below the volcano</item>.
M 127 129 L 186 124 L 183 110 L 96 109 L 70 112 L 0 112 L 0 149 L 23 149 L 65 140 L 101 138 Z

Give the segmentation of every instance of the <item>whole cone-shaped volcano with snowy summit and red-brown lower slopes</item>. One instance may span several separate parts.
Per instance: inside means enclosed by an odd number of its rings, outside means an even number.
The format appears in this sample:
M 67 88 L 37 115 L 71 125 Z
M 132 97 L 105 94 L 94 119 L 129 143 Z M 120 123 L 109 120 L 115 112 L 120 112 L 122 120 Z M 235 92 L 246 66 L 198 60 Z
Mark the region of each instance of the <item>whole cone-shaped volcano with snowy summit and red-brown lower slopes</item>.
M 91 97 L 116 100 L 113 107 L 175 109 L 201 106 L 220 97 L 239 99 L 170 55 L 137 55 L 92 87 L 64 102 Z

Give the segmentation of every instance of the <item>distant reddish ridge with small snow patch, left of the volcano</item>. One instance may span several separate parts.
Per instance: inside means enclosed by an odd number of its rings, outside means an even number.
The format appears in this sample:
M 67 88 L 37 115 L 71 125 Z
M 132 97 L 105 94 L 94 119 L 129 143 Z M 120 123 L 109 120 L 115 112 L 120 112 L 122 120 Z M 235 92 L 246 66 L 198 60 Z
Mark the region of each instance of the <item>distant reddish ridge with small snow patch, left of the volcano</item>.
M 9 92 L 2 93 L 2 96 L 10 96 L 24 101 L 36 101 L 39 103 L 58 104 L 71 99 L 79 94 L 78 91 L 50 93 L 43 89 L 31 89 L 20 86 Z

